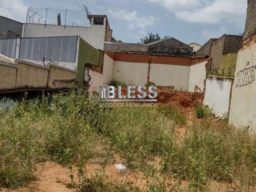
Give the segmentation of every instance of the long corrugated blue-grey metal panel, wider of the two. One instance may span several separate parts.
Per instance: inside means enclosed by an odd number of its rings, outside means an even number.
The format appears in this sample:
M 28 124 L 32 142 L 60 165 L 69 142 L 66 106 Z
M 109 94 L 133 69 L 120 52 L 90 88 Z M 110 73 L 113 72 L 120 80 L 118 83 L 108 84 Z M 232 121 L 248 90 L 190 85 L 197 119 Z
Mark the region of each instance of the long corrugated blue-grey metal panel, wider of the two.
M 20 59 L 76 62 L 77 36 L 22 38 Z

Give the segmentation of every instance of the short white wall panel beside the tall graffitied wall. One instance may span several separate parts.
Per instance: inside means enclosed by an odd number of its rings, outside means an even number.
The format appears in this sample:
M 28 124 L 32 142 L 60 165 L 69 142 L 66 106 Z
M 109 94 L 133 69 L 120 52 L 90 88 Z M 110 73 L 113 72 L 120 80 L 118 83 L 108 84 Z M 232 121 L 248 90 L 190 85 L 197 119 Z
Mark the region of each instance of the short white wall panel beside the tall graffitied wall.
M 207 78 L 204 94 L 204 105 L 212 109 L 212 113 L 225 116 L 228 114 L 231 80 Z

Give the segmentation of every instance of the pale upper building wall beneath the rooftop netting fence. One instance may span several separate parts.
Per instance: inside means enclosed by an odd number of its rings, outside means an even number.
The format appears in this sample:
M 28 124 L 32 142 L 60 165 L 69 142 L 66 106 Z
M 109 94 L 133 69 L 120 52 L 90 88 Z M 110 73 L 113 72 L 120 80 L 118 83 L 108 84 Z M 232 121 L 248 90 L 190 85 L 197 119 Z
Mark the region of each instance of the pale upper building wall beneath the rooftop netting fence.
M 105 18 L 106 20 L 106 18 Z M 92 27 L 72 27 L 44 24 L 24 24 L 23 37 L 80 36 L 95 48 L 104 50 L 106 21 L 104 25 Z

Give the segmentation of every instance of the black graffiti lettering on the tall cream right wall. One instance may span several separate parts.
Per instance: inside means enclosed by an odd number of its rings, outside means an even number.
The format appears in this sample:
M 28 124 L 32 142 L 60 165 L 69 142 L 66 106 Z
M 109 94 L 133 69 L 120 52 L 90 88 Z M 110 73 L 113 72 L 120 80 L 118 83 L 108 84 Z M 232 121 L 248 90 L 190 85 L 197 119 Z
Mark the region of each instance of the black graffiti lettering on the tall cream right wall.
M 249 66 L 250 62 L 247 62 L 246 66 Z M 256 65 L 252 67 L 246 67 L 243 70 L 240 70 L 236 75 L 236 88 L 247 86 L 255 81 L 255 72 Z

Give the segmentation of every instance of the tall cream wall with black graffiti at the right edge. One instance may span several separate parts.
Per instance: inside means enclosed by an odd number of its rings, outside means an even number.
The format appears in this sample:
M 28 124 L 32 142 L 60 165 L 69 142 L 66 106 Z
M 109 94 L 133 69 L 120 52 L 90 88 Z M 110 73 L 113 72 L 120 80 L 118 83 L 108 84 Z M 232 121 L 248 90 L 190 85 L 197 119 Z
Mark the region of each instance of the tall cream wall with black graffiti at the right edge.
M 229 115 L 230 124 L 238 128 L 249 126 L 253 130 L 256 130 L 255 53 L 256 43 L 253 42 L 238 52 Z

